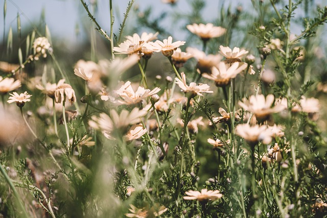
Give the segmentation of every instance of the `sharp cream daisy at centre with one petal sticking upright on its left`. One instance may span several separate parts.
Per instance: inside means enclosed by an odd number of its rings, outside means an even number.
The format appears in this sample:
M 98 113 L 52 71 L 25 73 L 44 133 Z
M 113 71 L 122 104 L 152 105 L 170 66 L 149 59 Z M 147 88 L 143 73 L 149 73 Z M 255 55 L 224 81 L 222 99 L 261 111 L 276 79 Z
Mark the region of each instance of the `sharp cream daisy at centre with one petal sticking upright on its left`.
M 203 96 L 201 92 L 213 93 L 213 91 L 209 90 L 210 86 L 208 86 L 207 84 L 200 83 L 199 85 L 197 85 L 196 83 L 191 82 L 190 86 L 187 85 L 184 72 L 181 72 L 181 78 L 182 80 L 175 78 L 177 85 L 181 88 L 183 92 L 191 93 L 192 98 L 197 94 Z

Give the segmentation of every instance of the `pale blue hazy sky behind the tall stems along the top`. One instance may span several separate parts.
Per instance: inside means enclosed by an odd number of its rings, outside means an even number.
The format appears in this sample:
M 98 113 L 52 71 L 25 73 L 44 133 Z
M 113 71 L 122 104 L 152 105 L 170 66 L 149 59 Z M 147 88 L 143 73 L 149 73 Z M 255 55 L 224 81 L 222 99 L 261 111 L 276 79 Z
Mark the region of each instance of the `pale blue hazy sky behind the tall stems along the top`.
M 174 9 L 183 12 L 190 11 L 186 1 L 187 0 L 179 0 Z M 208 20 L 215 17 L 212 14 L 217 13 L 221 1 L 207 0 L 204 17 Z M 113 0 L 112 2 L 115 15 L 115 30 L 118 30 L 119 23 L 121 23 L 123 19 L 123 13 L 126 10 L 129 0 Z M 239 1 L 230 0 L 224 2 L 225 4 L 229 4 Z M 87 0 L 86 3 L 89 3 L 89 0 Z M 0 0 L 0 8 L 2 11 L 3 5 L 4 0 Z M 151 5 L 154 13 L 160 13 L 162 11 L 169 12 L 173 10 L 170 5 L 161 3 L 161 0 L 135 0 L 134 6 L 136 5 L 141 10 Z M 86 17 L 85 10 L 82 8 L 82 5 L 78 0 L 7 0 L 6 34 L 8 33 L 9 26 L 13 28 L 13 31 L 17 29 L 17 13 L 20 15 L 21 26 L 24 28 L 24 26 L 27 26 L 30 22 L 37 23 L 41 17 L 42 10 L 45 11 L 45 21 L 50 28 L 51 34 L 53 36 L 66 38 L 69 41 L 74 41 L 76 25 L 78 24 L 80 27 L 83 25 L 81 17 L 84 17 L 83 21 L 89 21 Z M 1 14 L 0 39 L 2 40 L 4 17 L 3 12 Z M 101 27 L 109 32 L 110 16 L 108 0 L 98 1 L 98 13 L 96 14 L 96 18 Z M 129 17 L 129 19 L 131 18 L 132 17 Z

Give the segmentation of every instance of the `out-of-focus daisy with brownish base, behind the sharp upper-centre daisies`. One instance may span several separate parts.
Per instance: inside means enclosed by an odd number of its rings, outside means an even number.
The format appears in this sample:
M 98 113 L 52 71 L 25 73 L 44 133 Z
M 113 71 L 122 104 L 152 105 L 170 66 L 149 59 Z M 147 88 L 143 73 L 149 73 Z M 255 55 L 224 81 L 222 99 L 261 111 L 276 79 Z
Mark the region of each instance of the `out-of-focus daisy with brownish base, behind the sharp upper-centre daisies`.
M 222 59 L 221 55 L 206 55 L 204 52 L 193 47 L 187 47 L 186 52 L 191 53 L 194 58 L 198 60 L 197 68 L 200 70 L 201 74 L 204 72 L 211 74 L 212 67 L 218 65 Z

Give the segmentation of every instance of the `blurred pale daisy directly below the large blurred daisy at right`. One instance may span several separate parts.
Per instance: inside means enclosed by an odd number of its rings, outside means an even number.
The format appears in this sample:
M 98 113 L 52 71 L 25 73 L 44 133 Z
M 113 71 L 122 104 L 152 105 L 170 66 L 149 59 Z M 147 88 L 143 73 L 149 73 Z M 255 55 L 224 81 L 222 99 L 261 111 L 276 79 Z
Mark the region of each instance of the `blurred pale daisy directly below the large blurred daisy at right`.
M 271 142 L 271 132 L 267 126 L 239 124 L 236 127 L 236 134 L 244 138 L 251 146 L 259 141 L 262 141 L 264 144 Z

